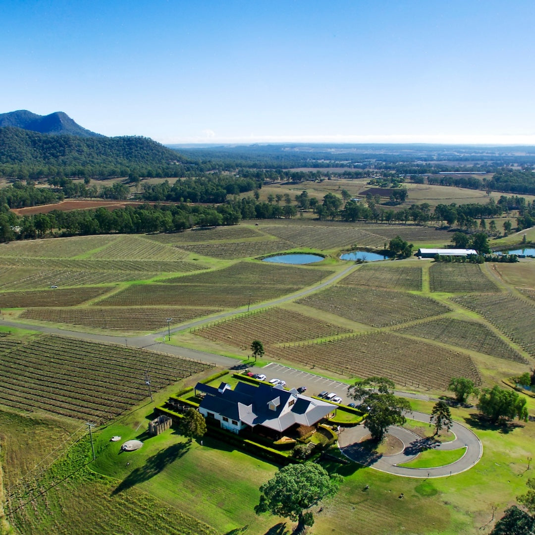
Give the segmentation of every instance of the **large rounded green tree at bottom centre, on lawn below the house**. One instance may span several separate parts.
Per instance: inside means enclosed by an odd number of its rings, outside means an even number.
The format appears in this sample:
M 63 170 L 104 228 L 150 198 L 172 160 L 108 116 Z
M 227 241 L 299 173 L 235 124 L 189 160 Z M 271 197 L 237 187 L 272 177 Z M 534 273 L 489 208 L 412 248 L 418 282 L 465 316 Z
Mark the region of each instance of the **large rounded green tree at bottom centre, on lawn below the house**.
M 281 468 L 260 487 L 255 513 L 271 513 L 297 521 L 296 533 L 314 524 L 310 507 L 338 491 L 341 476 L 330 476 L 319 464 L 306 462 Z

